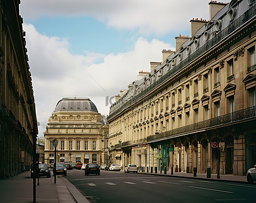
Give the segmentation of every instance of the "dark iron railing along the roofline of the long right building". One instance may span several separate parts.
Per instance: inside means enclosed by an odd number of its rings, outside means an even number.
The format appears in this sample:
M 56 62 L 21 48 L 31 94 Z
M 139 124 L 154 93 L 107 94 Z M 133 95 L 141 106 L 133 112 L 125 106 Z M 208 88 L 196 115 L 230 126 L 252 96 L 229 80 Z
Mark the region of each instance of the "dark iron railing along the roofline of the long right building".
M 152 91 L 153 89 L 155 89 L 156 87 L 161 85 L 162 83 L 165 83 L 165 81 L 167 81 L 169 78 L 171 78 L 171 76 L 173 76 L 174 74 L 177 74 L 177 72 L 184 69 L 188 64 L 192 63 L 194 60 L 196 60 L 198 57 L 200 57 L 200 55 L 209 51 L 209 49 L 211 49 L 212 47 L 219 44 L 220 41 L 222 41 L 223 39 L 228 37 L 228 35 L 230 35 L 232 32 L 234 32 L 234 30 L 240 28 L 240 26 L 242 26 L 242 24 L 251 20 L 253 17 L 255 17 L 255 15 L 256 15 L 256 5 L 251 7 L 251 9 L 249 9 L 247 12 L 244 12 L 244 14 L 242 14 L 242 16 L 240 16 L 238 19 L 236 19 L 232 23 L 230 23 L 229 26 L 227 26 L 226 28 L 221 30 L 217 35 L 215 35 L 215 37 L 213 37 L 212 39 L 207 41 L 207 43 L 202 45 L 202 47 L 199 47 L 196 51 L 194 51 L 194 53 L 191 53 L 182 62 L 177 64 L 177 66 L 174 66 L 171 70 L 169 70 L 169 72 L 167 72 L 166 74 L 161 76 L 161 78 L 159 78 L 157 81 L 152 83 L 152 85 L 150 85 L 149 87 L 140 91 L 140 93 L 137 93 L 137 95 L 135 95 L 135 97 L 132 97 L 128 101 L 123 101 L 123 98 L 121 97 L 121 101 L 119 101 L 119 103 L 121 103 L 121 106 L 119 108 L 116 107 L 116 110 L 108 116 L 108 120 L 113 118 L 114 116 L 116 116 L 116 114 L 119 114 L 119 112 L 121 112 L 122 110 L 124 110 L 125 108 L 130 106 L 131 104 L 135 103 L 135 101 L 137 101 L 138 99 L 140 99 L 141 97 L 146 95 L 146 93 L 149 93 L 150 91 Z

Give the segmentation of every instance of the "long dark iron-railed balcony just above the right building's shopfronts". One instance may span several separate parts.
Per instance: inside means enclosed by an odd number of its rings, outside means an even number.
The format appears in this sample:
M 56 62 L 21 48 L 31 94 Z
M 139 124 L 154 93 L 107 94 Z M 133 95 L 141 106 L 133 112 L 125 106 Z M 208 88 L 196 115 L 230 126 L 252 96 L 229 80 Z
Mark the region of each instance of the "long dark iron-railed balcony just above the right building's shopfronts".
M 196 122 L 192 125 L 187 125 L 184 127 L 173 129 L 171 131 L 166 131 L 164 133 L 150 135 L 147 137 L 147 141 L 154 141 L 154 140 L 163 139 L 163 138 L 171 138 L 172 136 L 177 136 L 184 133 L 196 133 L 196 131 L 199 131 L 202 129 L 207 130 L 213 127 L 222 127 L 224 125 L 247 120 L 249 118 L 256 119 L 256 106 L 253 106 L 251 108 L 246 108 L 244 110 L 240 110 L 237 112 L 233 112 L 231 114 L 226 114 L 223 116 L 218 116 L 215 118 L 204 120 L 202 122 Z

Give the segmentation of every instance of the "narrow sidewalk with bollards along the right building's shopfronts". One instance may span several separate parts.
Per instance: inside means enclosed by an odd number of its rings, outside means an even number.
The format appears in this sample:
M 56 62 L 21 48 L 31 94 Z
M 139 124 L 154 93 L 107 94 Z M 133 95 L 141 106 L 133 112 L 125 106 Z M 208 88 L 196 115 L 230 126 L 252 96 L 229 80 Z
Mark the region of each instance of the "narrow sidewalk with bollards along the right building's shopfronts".
M 167 177 L 184 177 L 184 178 L 190 178 L 190 179 L 205 179 L 205 180 L 214 180 L 214 181 L 232 181 L 237 183 L 247 183 L 247 177 L 244 175 L 219 175 L 219 179 L 217 179 L 217 174 L 211 174 L 211 178 L 207 178 L 207 173 L 196 173 L 196 177 L 194 177 L 194 173 L 173 173 L 171 175 L 170 171 L 167 171 L 167 174 L 165 174 L 164 171 L 160 173 L 146 173 L 146 172 L 138 172 L 140 174 L 145 175 L 162 175 Z

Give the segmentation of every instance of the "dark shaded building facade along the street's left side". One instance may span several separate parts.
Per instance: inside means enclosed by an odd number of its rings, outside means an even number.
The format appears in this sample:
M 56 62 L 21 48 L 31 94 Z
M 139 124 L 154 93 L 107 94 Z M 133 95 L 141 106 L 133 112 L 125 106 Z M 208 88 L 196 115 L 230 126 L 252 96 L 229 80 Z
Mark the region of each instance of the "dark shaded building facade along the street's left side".
M 0 178 L 29 170 L 37 117 L 20 1 L 0 1 Z

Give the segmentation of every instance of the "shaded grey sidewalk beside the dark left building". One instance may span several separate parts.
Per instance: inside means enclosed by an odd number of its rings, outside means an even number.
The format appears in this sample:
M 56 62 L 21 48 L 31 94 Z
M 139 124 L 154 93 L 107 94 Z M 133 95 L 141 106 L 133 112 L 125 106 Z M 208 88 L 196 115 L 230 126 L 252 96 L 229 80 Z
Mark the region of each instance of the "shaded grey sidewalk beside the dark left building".
M 38 181 L 38 180 L 37 180 Z M 89 202 L 80 191 L 64 177 L 41 177 L 36 181 L 37 202 Z M 33 179 L 26 171 L 9 179 L 0 179 L 0 202 L 33 202 Z

